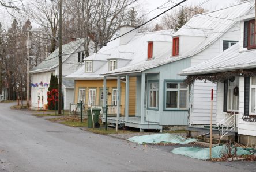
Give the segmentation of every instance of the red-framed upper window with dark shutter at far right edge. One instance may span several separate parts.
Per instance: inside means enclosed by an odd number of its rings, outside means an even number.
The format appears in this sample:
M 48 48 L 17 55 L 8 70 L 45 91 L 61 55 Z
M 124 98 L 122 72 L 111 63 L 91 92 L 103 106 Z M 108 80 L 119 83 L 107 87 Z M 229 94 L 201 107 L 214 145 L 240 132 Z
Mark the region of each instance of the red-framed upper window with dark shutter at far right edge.
M 256 48 L 255 19 L 244 22 L 244 48 Z

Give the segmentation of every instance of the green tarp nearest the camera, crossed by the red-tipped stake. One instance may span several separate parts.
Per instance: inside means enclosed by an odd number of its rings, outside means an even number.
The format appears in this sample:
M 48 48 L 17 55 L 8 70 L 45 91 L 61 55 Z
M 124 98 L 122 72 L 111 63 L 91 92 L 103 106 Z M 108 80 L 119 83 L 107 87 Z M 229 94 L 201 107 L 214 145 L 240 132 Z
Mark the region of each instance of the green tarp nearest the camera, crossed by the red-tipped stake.
M 253 154 L 242 147 L 237 147 L 237 148 L 238 148 L 236 151 L 237 156 Z M 210 159 L 210 148 L 179 147 L 172 150 L 171 153 L 185 155 L 186 157 L 197 158 L 202 160 Z M 212 158 L 221 158 L 223 153 L 224 154 L 227 153 L 227 147 L 225 145 L 214 146 L 212 148 Z

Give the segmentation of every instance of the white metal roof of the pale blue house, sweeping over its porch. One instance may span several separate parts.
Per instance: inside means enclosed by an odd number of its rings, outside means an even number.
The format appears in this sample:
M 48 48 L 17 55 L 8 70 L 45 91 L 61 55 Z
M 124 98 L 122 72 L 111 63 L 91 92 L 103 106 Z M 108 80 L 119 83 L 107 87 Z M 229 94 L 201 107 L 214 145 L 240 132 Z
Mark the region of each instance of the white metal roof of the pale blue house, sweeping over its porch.
M 134 67 L 125 67 L 122 69 L 116 69 L 115 71 L 106 72 L 103 73 L 103 75 L 110 76 L 116 75 L 116 73 L 142 72 L 146 69 L 155 68 L 160 65 L 168 64 L 170 62 L 192 57 L 195 54 L 201 52 L 202 50 L 208 48 L 221 36 L 223 36 L 224 33 L 231 29 L 232 26 L 234 26 L 236 23 L 236 21 L 234 21 L 234 18 L 247 14 L 249 10 L 253 7 L 254 1 L 246 1 L 234 6 L 226 7 L 224 9 L 195 15 L 173 36 L 205 36 L 205 40 L 197 45 L 194 49 L 178 57 L 171 57 L 170 51 L 169 54 L 166 54 L 166 57 L 161 57 L 158 60 L 152 60 L 151 62 L 141 64 L 142 66 L 145 65 L 145 68 L 140 68 L 140 65 L 134 65 Z

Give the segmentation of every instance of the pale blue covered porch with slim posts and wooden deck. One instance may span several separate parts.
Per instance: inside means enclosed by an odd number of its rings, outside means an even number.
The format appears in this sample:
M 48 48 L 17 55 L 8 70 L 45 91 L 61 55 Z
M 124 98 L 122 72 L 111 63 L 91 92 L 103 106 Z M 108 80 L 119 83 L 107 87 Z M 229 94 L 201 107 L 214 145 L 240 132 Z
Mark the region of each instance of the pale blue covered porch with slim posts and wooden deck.
M 116 73 L 112 75 L 104 75 L 104 102 L 106 102 L 106 84 L 107 84 L 107 77 L 116 77 L 117 80 L 117 92 L 116 92 L 116 98 L 117 98 L 117 110 L 116 110 L 116 116 L 111 116 L 107 118 L 107 123 L 114 124 L 115 126 L 127 126 L 127 127 L 133 127 L 133 128 L 139 128 L 140 131 L 144 131 L 146 129 L 149 130 L 160 130 L 160 132 L 163 129 L 163 126 L 159 124 L 159 118 L 157 118 L 157 111 L 154 111 L 155 119 L 149 120 L 149 116 L 152 115 L 147 111 L 147 79 L 146 77 L 152 75 L 152 76 L 158 76 L 159 72 L 138 72 L 138 73 Z M 130 77 L 136 77 L 136 85 L 135 85 L 135 102 L 129 102 L 130 95 Z M 120 83 L 125 82 L 125 116 L 120 115 L 120 104 L 121 104 L 121 88 Z M 133 88 L 134 89 L 134 88 Z M 153 95 L 152 95 L 153 96 Z M 135 116 L 133 114 L 130 114 L 129 112 L 129 103 L 135 104 Z M 106 104 L 103 104 L 103 107 L 106 107 Z M 118 108 L 119 107 L 119 108 Z M 106 122 L 106 115 L 103 114 L 102 118 L 103 122 Z

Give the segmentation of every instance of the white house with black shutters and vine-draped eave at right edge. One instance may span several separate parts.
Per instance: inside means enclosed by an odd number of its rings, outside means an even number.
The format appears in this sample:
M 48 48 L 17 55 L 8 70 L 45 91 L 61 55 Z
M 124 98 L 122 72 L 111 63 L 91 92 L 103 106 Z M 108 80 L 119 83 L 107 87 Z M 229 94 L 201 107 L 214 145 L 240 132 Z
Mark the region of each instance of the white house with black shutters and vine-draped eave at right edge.
M 185 69 L 188 80 L 217 83 L 216 123 L 228 127 L 225 134 L 240 136 L 240 142 L 256 142 L 256 33 L 255 11 L 235 19 L 240 25 L 240 42 L 212 60 Z M 197 128 L 190 128 L 197 130 Z

